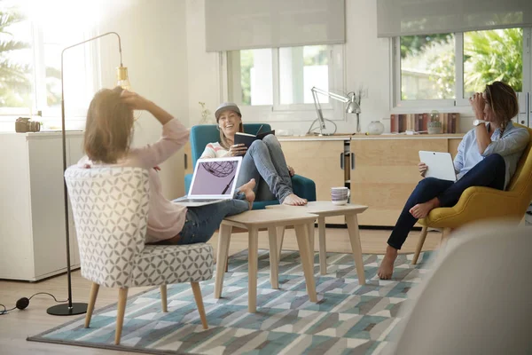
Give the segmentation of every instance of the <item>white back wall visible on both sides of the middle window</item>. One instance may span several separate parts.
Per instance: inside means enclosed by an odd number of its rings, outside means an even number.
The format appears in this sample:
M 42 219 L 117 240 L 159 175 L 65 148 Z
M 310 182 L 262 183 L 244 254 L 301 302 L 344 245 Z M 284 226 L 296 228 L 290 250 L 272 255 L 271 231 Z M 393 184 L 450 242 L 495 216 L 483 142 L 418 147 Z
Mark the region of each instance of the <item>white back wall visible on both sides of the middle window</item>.
M 189 123 L 193 125 L 200 120 L 198 101 L 205 101 L 207 107 L 214 111 L 221 101 L 222 92 L 218 56 L 216 53 L 205 51 L 205 1 L 186 0 L 186 7 Z M 346 91 L 357 91 L 360 84 L 363 84 L 368 92 L 368 97 L 362 99 L 361 103 L 362 131 L 366 131 L 368 124 L 374 120 L 382 121 L 386 130 L 389 131 L 392 91 L 390 85 L 391 48 L 389 39 L 377 38 L 375 0 L 346 0 L 346 30 Z M 437 107 L 434 108 L 437 109 Z M 407 112 L 404 110 L 404 113 Z M 411 109 L 411 112 L 419 112 L 419 110 L 412 111 Z M 383 118 L 386 120 L 383 121 Z M 339 132 L 356 131 L 355 114 L 347 114 L 345 122 L 336 123 Z M 461 130 L 469 129 L 468 120 L 462 120 L 461 123 Z M 272 122 L 271 124 L 278 130 L 293 130 L 296 134 L 303 134 L 309 129 L 310 122 Z

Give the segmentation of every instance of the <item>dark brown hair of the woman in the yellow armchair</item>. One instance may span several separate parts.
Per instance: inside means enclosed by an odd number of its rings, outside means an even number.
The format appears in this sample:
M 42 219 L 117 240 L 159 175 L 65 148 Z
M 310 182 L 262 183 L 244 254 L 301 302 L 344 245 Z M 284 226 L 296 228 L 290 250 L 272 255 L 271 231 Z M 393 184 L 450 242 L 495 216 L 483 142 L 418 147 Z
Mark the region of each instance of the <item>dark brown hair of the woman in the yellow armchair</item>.
M 489 102 L 489 108 L 500 126 L 501 137 L 503 137 L 508 122 L 519 114 L 517 94 L 510 85 L 503 82 L 493 82 L 486 85 L 484 93 L 486 101 Z

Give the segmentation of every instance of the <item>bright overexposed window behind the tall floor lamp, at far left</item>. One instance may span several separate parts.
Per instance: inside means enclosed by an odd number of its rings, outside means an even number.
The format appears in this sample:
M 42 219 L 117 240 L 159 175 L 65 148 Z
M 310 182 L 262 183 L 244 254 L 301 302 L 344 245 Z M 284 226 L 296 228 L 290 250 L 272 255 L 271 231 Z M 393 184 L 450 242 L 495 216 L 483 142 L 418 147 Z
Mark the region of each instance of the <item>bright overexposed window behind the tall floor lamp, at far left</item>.
M 27 9 L 0 7 L 0 114 L 8 116 L 4 120 L 37 111 L 42 112 L 43 121 L 46 116 L 59 117 L 61 51 L 90 35 L 73 25 L 72 20 L 43 21 Z M 89 44 L 65 53 L 68 115 L 86 114 L 98 84 L 95 55 L 96 47 Z

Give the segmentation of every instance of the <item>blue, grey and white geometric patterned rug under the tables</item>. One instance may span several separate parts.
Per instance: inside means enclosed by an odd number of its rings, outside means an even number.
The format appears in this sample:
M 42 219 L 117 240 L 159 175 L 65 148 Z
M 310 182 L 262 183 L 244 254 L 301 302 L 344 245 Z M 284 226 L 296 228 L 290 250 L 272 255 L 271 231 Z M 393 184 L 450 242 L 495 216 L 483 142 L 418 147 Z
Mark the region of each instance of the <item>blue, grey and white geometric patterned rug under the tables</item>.
M 116 304 L 28 340 L 153 354 L 376 354 L 394 336 L 397 312 L 427 272 L 423 253 L 399 255 L 393 280 L 376 276 L 381 255 L 364 255 L 367 284 L 356 278 L 353 256 L 328 253 L 328 274 L 314 258 L 317 304 L 309 302 L 298 252 L 283 251 L 279 288 L 270 288 L 270 260 L 259 250 L 257 312 L 247 312 L 247 252 L 231 256 L 223 298 L 215 299 L 214 279 L 200 283 L 209 328 L 201 327 L 190 284 L 168 285 L 168 313 L 160 312 L 159 288 L 128 299 L 121 345 L 114 345 Z M 411 293 L 410 293 L 411 297 Z M 73 349 L 74 351 L 74 349 Z

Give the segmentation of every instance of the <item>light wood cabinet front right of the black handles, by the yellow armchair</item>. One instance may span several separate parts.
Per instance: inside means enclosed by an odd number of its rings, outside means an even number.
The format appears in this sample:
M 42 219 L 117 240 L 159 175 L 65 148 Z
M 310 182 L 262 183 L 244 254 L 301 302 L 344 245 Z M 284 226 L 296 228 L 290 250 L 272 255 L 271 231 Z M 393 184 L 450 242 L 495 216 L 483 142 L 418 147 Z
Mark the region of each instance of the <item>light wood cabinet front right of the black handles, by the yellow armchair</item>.
M 394 226 L 404 203 L 418 184 L 419 151 L 450 152 L 461 138 L 353 138 L 350 152 L 352 203 L 370 208 L 358 217 L 360 225 Z

